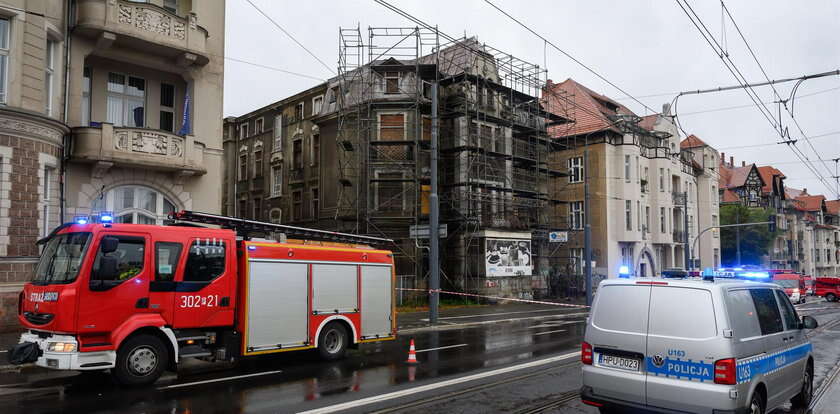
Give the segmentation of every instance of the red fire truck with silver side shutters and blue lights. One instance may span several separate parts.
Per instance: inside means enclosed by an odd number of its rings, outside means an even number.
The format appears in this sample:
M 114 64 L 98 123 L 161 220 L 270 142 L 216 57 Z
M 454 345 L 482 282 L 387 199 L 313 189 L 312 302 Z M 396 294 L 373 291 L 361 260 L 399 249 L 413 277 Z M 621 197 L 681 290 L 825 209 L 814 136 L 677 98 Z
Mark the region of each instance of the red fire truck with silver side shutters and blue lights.
M 391 240 L 190 211 L 166 226 L 110 217 L 79 218 L 39 242 L 12 362 L 110 369 L 142 385 L 189 357 L 317 349 L 337 359 L 396 337 L 393 255 L 368 247 Z M 249 239 L 255 233 L 307 242 Z

